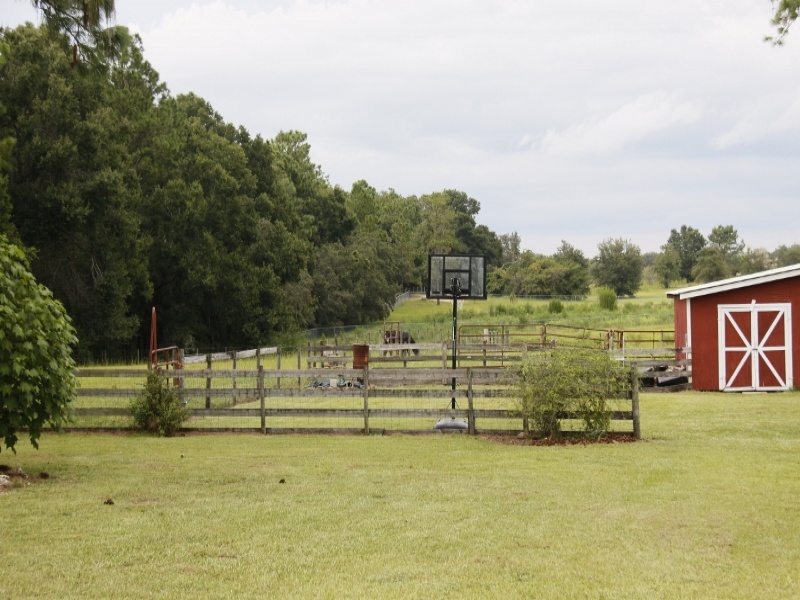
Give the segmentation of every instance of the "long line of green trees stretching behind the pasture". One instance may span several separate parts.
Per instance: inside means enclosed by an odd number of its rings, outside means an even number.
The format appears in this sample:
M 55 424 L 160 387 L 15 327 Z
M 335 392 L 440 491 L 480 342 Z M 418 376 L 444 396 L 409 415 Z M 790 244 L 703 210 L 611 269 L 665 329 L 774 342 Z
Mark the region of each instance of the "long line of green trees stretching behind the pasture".
M 459 190 L 331 185 L 306 134 L 263 139 L 170 94 L 137 36 L 100 27 L 107 4 L 87 18 L 41 1 L 44 25 L 0 30 L 0 234 L 63 304 L 84 357 L 146 347 L 152 306 L 162 341 L 203 348 L 381 320 L 422 288 L 429 253 L 485 255 L 489 291 L 516 295 L 630 295 L 643 277 L 800 262 L 798 246 L 746 249 L 731 226 L 672 230 L 658 254 L 609 239 L 591 260 L 567 242 L 545 256 L 479 224 Z

